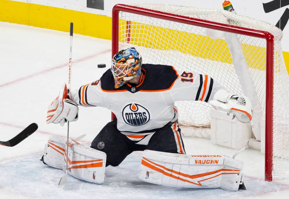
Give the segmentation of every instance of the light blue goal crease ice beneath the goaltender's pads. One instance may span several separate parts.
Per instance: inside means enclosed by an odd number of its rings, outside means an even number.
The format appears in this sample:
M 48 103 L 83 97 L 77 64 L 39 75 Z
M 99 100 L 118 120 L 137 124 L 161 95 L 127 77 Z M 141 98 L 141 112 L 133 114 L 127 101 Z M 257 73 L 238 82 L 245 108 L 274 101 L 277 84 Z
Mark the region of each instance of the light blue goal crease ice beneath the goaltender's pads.
M 287 185 L 262 182 L 245 178 L 247 190 L 236 192 L 222 189 L 178 188 L 146 183 L 138 179 L 142 152 L 129 155 L 118 167 L 107 167 L 103 184 L 89 183 L 67 176 L 63 187 L 58 181 L 64 171 L 44 165 L 39 159 L 42 154 L 28 155 L 2 161 L 2 189 L 11 190 L 25 197 L 36 198 L 240 198 L 263 195 L 272 191 L 288 189 Z M 258 184 L 259 186 L 256 186 Z M 48 191 L 49 190 L 49 191 Z

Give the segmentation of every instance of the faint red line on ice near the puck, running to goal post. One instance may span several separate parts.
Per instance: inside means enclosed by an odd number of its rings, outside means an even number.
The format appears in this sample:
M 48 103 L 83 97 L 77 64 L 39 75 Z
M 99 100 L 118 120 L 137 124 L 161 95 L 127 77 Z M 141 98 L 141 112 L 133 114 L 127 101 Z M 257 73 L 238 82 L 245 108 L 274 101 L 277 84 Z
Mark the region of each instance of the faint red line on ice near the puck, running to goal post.
M 104 54 L 104 53 L 107 53 L 107 52 L 111 52 L 111 49 L 107 49 L 107 50 L 104 50 L 102 52 L 99 52 L 99 53 L 96 53 L 96 54 L 92 54 L 92 55 L 88 55 L 86 57 L 83 57 L 83 58 L 80 58 L 80 59 L 77 59 L 75 61 L 72 61 L 73 63 L 79 63 L 79 62 L 82 62 L 86 59 L 91 59 L 97 55 L 101 55 L 101 54 Z M 45 69 L 45 70 L 42 70 L 40 72 L 37 72 L 37 73 L 34 73 L 34 74 L 31 74 L 31 75 L 27 75 L 27 76 L 24 76 L 24 77 L 21 77 L 19 79 L 16 79 L 16 80 L 13 80 L 11 82 L 7 82 L 7 83 L 4 83 L 4 84 L 0 84 L 0 88 L 1 87 L 5 87 L 5 86 L 8 86 L 10 84 L 14 84 L 14 83 L 18 83 L 19 81 L 22 81 L 22 80 L 27 80 L 31 77 L 34 77 L 34 76 L 37 76 L 37 75 L 41 75 L 41 74 L 44 74 L 44 73 L 47 73 L 47 72 L 51 72 L 53 70 L 56 70 L 56 69 L 60 69 L 60 68 L 63 68 L 63 67 L 68 67 L 68 63 L 65 63 L 65 64 L 61 64 L 61 65 L 58 65 L 58 66 L 55 66 L 55 67 L 52 67 L 50 69 Z

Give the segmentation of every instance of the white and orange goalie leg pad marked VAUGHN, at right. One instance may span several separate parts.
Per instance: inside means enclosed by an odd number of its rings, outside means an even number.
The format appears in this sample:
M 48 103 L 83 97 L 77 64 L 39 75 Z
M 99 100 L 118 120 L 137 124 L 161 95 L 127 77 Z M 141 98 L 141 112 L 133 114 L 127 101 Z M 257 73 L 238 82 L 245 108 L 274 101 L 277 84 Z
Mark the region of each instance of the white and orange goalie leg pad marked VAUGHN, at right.
M 242 184 L 243 162 L 224 155 L 185 155 L 145 150 L 139 179 L 174 187 L 222 188 Z

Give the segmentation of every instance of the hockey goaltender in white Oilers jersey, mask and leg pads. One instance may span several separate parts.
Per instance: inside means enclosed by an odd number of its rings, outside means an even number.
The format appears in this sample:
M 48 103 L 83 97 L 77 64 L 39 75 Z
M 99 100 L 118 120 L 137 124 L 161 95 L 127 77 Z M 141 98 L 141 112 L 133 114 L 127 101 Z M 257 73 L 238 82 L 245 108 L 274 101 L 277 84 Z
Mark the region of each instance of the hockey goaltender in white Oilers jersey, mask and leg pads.
M 201 100 L 231 112 L 241 122 L 252 119 L 247 97 L 230 94 L 209 75 L 177 71 L 174 66 L 142 63 L 135 48 L 113 56 L 99 80 L 69 92 L 66 84 L 49 105 L 47 123 L 78 119 L 78 106 L 100 106 L 115 118 L 91 146 L 69 140 L 68 173 L 93 183 L 104 182 L 108 165 L 118 166 L 132 151 L 144 151 L 139 178 L 177 187 L 238 190 L 243 162 L 224 155 L 186 155 L 174 101 Z M 51 136 L 43 162 L 66 170 L 66 139 Z

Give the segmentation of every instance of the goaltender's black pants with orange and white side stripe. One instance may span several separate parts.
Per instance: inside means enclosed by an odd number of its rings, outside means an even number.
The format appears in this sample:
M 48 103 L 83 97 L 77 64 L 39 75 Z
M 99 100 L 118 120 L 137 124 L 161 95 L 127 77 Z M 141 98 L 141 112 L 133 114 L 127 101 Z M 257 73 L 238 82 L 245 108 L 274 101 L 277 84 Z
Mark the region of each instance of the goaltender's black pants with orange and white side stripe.
M 107 123 L 91 143 L 91 147 L 106 153 L 106 166 L 118 166 L 132 151 L 153 150 L 183 153 L 185 148 L 178 123 L 168 123 L 157 130 L 147 145 L 135 144 L 116 126 L 117 119 Z M 177 130 L 176 130 L 177 129 Z

